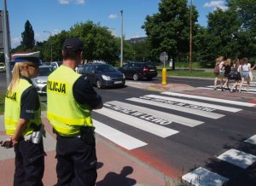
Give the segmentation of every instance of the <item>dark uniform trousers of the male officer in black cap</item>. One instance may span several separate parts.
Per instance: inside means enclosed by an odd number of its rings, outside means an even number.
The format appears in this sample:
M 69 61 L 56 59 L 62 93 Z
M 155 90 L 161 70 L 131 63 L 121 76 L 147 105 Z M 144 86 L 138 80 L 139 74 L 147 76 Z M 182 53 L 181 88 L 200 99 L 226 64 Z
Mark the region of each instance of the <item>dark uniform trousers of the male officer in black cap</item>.
M 94 131 L 82 137 L 61 137 L 57 134 L 56 171 L 58 186 L 95 186 L 96 143 Z

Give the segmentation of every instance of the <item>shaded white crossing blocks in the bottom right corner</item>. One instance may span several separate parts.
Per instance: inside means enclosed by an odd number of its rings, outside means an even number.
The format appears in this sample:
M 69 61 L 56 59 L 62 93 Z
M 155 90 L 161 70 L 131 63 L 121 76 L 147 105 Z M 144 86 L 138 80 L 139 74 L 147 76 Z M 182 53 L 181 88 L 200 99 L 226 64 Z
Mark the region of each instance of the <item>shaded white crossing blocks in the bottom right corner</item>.
M 248 138 L 244 142 L 250 142 L 256 145 L 256 135 L 253 137 Z M 218 155 L 218 160 L 224 161 L 230 165 L 239 167 L 243 170 L 246 170 L 249 166 L 252 166 L 253 163 L 256 162 L 256 156 L 253 154 L 247 154 L 241 150 L 237 150 L 231 148 L 225 151 L 223 154 Z M 206 165 L 207 166 L 207 165 Z M 195 185 L 211 185 L 211 186 L 221 186 L 225 185 L 230 178 L 224 177 L 221 173 L 209 171 L 207 168 L 198 167 L 194 171 L 190 171 L 189 173 L 183 175 L 183 181 Z M 241 185 L 241 184 L 237 184 Z

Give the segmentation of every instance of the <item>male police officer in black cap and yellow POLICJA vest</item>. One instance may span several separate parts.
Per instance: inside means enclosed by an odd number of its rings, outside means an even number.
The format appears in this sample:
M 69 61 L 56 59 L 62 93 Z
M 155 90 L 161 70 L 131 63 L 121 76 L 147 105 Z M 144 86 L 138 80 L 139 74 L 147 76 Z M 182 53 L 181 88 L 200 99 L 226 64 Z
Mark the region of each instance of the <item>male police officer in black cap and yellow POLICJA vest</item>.
M 57 135 L 57 185 L 94 186 L 96 142 L 91 110 L 102 108 L 102 97 L 85 76 L 75 73 L 83 43 L 69 38 L 63 44 L 63 64 L 47 82 L 47 117 Z

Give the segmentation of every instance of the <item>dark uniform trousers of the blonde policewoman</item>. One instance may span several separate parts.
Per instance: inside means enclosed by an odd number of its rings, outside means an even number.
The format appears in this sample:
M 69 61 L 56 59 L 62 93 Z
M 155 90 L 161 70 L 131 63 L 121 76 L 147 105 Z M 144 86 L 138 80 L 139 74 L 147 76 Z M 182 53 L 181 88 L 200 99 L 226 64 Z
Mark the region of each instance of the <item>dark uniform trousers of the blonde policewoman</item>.
M 21 139 L 15 147 L 15 186 L 44 185 L 44 146 Z

